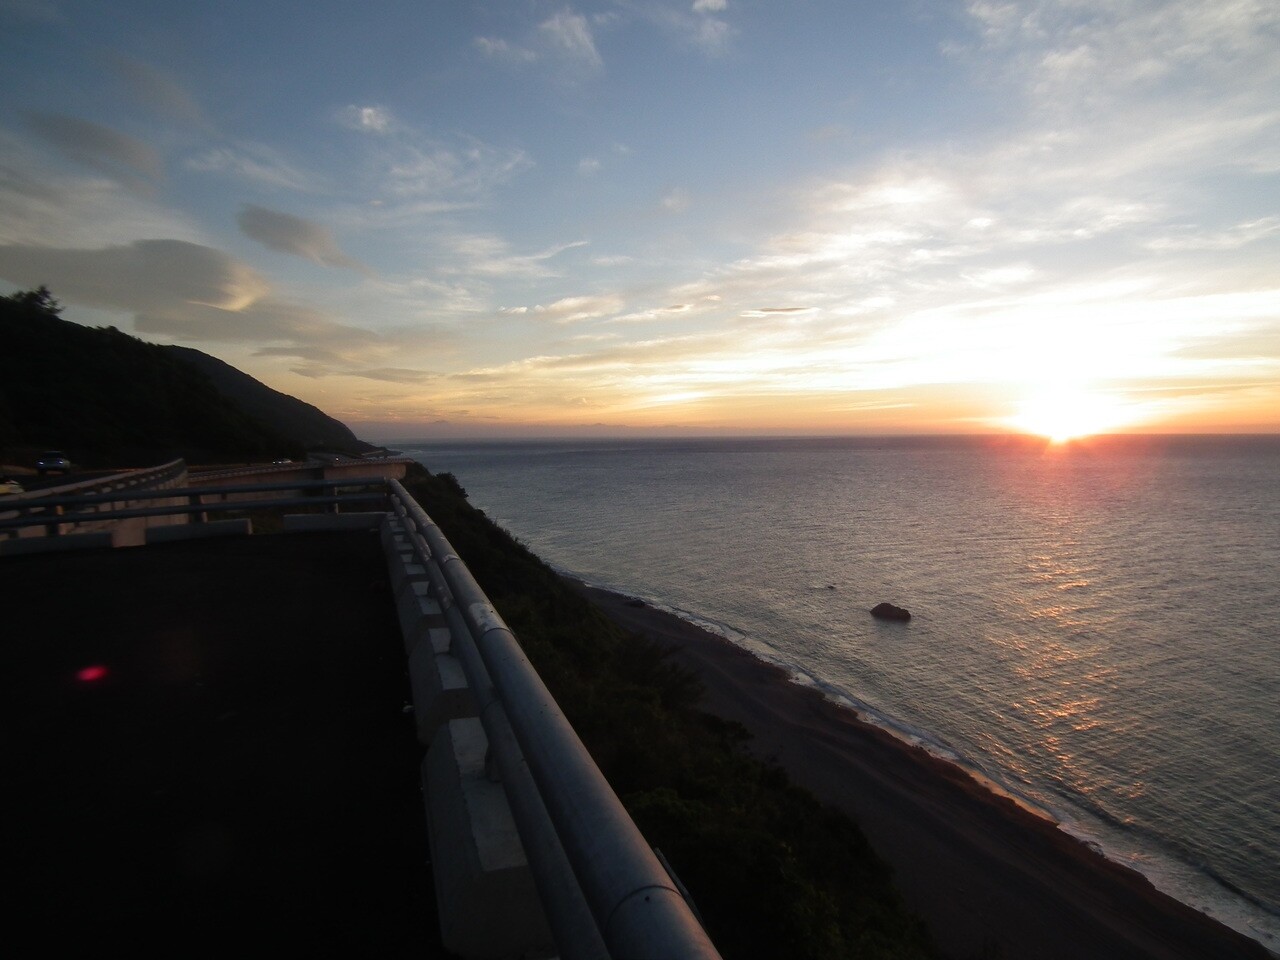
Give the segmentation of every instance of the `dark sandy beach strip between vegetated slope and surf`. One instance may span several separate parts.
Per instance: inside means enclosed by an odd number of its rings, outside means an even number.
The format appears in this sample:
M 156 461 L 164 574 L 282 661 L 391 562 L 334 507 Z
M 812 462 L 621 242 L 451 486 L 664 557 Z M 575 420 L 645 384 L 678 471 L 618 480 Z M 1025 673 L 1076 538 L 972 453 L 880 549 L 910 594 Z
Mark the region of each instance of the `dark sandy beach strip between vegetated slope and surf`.
M 564 580 L 623 628 L 672 650 L 703 681 L 703 708 L 750 731 L 753 754 L 856 819 L 946 956 L 1275 956 L 731 641 Z

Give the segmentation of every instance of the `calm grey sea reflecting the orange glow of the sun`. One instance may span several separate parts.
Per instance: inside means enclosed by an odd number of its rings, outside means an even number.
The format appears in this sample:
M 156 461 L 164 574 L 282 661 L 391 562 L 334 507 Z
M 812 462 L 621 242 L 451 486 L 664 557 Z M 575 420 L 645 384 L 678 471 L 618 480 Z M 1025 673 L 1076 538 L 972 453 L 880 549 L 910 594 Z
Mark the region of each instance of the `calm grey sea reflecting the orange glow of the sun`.
M 1280 947 L 1280 438 L 399 448 Z

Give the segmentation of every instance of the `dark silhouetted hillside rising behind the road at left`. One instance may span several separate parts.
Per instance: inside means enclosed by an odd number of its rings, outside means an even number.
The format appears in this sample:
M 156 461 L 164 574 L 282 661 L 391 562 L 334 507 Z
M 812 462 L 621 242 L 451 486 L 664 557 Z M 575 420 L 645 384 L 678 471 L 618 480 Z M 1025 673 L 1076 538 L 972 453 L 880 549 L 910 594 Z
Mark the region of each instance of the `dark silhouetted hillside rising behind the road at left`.
M 357 453 L 337 420 L 214 357 L 63 320 L 47 291 L 0 297 L 0 453 L 84 466 Z

